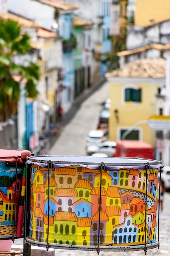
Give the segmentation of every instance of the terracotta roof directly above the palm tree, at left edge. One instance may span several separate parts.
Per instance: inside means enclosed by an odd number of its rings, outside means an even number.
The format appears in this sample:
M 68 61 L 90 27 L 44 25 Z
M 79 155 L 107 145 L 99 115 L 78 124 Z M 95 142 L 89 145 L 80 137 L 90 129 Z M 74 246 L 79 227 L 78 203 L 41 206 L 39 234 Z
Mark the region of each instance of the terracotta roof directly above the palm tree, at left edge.
M 35 21 L 28 20 L 26 18 L 21 18 L 11 13 L 0 13 L 0 18 L 2 18 L 3 20 L 13 20 L 15 22 L 18 22 L 18 24 L 22 27 L 35 27 L 35 28 L 41 27 L 41 25 Z

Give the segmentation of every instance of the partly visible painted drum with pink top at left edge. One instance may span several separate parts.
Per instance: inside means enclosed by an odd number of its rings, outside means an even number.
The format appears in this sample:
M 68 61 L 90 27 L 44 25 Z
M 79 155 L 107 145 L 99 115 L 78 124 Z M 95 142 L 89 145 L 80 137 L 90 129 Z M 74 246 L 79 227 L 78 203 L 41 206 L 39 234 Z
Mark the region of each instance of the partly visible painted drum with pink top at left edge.
M 9 251 L 16 238 L 24 168 L 21 154 L 0 149 L 0 251 Z

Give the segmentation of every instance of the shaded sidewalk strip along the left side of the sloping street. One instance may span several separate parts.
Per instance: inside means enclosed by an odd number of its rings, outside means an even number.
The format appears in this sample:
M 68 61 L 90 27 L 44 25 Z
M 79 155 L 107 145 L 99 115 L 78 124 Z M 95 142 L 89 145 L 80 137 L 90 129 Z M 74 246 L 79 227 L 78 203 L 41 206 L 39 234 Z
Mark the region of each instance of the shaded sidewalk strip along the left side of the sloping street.
M 51 134 L 50 136 L 50 146 L 53 146 L 55 143 L 57 137 L 60 135 L 60 132 L 62 131 L 62 128 L 68 124 L 68 122 L 74 117 L 77 110 L 81 106 L 81 104 L 96 90 L 98 90 L 104 83 L 106 82 L 106 78 L 102 77 L 101 81 L 96 83 L 95 85 L 91 86 L 90 88 L 87 88 L 80 94 L 75 101 L 73 102 L 73 105 L 71 106 L 70 110 L 68 110 L 67 113 L 63 114 L 62 121 L 58 122 L 56 125 L 57 132 L 55 134 Z

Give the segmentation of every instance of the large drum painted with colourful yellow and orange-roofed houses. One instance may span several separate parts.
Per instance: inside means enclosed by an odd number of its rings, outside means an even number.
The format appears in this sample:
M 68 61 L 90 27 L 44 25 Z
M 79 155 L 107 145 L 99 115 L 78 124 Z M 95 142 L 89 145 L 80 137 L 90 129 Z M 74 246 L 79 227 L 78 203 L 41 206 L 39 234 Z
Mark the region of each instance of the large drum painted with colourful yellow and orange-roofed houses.
M 159 247 L 158 168 L 141 158 L 34 156 L 27 243 L 57 249 Z

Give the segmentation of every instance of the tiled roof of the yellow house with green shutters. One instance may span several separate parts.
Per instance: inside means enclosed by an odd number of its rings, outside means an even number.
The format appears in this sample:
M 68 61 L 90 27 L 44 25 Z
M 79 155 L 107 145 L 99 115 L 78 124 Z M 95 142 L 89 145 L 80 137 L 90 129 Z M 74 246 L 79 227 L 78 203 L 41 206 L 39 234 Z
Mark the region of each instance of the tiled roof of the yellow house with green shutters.
M 130 77 L 130 78 L 165 78 L 166 60 L 163 58 L 139 59 L 128 63 L 124 67 L 105 74 L 108 77 Z

